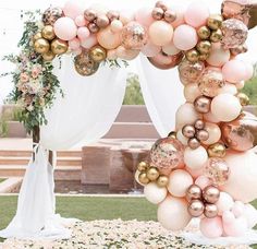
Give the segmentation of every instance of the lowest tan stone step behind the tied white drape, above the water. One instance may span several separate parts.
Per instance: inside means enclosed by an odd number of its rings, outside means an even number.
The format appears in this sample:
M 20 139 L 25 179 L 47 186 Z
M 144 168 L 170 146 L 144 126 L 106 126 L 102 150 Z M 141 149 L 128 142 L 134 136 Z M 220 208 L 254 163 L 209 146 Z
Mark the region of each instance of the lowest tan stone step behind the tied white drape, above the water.
M 9 178 L 9 177 L 23 177 L 26 170 L 26 166 L 2 166 L 0 165 L 0 178 Z M 56 180 L 81 180 L 81 166 L 58 166 L 54 169 L 54 179 Z

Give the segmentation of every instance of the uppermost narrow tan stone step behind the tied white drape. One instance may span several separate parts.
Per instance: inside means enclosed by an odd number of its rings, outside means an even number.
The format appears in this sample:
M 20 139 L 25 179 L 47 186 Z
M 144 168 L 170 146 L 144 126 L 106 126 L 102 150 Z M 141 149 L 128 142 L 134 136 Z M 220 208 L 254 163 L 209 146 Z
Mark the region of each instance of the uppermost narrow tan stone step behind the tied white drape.
M 0 156 L 30 157 L 32 151 L 0 150 Z M 60 152 L 57 152 L 57 156 L 60 156 L 60 157 L 82 157 L 82 151 L 60 151 Z

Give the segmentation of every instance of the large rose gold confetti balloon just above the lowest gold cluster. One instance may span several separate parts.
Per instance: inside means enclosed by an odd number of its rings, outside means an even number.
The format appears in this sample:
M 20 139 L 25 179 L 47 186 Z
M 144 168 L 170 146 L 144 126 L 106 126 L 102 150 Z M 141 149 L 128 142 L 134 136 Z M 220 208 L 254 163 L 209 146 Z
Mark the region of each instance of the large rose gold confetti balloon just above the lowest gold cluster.
M 150 165 L 160 173 L 169 174 L 173 168 L 183 165 L 184 146 L 172 138 L 159 139 L 150 151 Z

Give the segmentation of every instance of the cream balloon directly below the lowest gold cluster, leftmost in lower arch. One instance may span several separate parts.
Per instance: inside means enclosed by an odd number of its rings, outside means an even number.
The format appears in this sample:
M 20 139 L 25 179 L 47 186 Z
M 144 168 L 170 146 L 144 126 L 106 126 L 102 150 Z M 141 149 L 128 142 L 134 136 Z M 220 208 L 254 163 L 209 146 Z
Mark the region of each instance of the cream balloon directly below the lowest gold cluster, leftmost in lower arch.
M 161 203 L 166 199 L 167 193 L 167 188 L 161 188 L 155 182 L 150 182 L 144 188 L 145 198 L 154 204 Z

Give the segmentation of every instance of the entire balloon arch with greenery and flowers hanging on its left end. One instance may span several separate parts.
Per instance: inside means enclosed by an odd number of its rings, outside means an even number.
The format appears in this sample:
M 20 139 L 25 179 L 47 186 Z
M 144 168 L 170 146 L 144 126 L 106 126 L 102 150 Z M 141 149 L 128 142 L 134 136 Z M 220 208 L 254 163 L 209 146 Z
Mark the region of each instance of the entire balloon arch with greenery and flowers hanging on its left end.
M 220 14 L 201 2 L 185 11 L 158 1 L 151 9 L 125 12 L 83 10 L 73 1 L 47 9 L 38 22 L 25 23 L 11 98 L 23 107 L 21 121 L 34 131 L 47 124 L 45 108 L 61 92 L 52 60 L 74 55 L 84 76 L 105 67 L 123 67 L 139 54 L 159 69 L 178 67 L 186 103 L 176 111 L 176 127 L 152 146 L 136 180 L 148 201 L 158 204 L 158 220 L 179 230 L 193 217 L 208 238 L 243 236 L 257 222 L 248 202 L 257 198 L 256 117 L 242 111 L 248 104 L 238 93 L 253 76 L 246 52 L 249 7 L 225 1 Z

